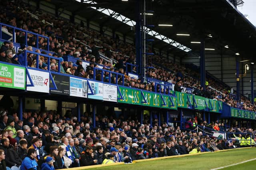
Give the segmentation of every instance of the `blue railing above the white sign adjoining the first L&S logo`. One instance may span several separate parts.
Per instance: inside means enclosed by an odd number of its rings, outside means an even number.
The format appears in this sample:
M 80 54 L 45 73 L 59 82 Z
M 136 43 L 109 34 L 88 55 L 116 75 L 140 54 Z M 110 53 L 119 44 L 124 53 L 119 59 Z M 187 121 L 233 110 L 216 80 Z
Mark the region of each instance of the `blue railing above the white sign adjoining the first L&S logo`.
M 124 86 L 124 74 L 121 74 L 121 73 L 118 73 L 118 72 L 113 72 L 113 71 L 109 71 L 109 70 L 104 70 L 104 69 L 101 69 L 101 68 L 97 68 L 97 67 L 94 67 L 93 68 L 94 70 L 94 74 L 93 74 L 93 79 L 96 80 L 96 71 L 99 70 L 100 71 L 100 79 L 102 82 L 104 82 L 104 72 L 108 72 L 108 83 L 111 83 L 111 78 L 112 78 L 112 75 L 115 74 L 115 77 L 116 77 L 116 82 L 114 84 L 118 84 L 118 76 L 122 76 L 122 86 Z

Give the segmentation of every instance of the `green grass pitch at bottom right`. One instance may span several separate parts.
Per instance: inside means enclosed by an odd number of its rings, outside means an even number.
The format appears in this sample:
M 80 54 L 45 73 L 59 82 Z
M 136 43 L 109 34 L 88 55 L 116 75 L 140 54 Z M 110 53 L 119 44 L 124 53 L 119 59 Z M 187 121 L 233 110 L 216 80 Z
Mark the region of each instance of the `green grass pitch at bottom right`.
M 256 148 L 208 152 L 181 158 L 90 168 L 90 170 L 211 170 L 256 158 Z M 256 170 L 256 160 L 222 170 Z

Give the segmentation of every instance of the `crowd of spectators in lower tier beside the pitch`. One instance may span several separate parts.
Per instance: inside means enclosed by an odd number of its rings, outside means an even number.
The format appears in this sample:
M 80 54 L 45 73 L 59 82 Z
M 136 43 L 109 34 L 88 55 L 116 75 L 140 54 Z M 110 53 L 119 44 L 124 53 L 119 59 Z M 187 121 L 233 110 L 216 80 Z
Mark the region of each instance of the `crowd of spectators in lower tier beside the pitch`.
M 20 120 L 15 111 L 7 114 L 1 109 L 0 169 L 20 166 L 20 170 L 54 170 L 130 163 L 133 160 L 255 145 L 255 131 L 252 129 L 226 129 L 223 123 L 212 123 L 212 130 L 227 131 L 226 140 L 222 136 L 214 138 L 203 134 L 200 129 L 196 130 L 194 122 L 197 119 L 188 119 L 184 125 L 186 129 L 180 129 L 167 123 L 158 125 L 157 119 L 150 125 L 148 119 L 140 124 L 137 120 L 111 115 L 96 115 L 94 128 L 88 113 L 78 121 L 70 110 L 63 117 L 56 111 L 26 111 Z M 202 120 L 198 120 L 198 124 L 207 125 Z M 249 133 L 252 133 L 252 140 Z

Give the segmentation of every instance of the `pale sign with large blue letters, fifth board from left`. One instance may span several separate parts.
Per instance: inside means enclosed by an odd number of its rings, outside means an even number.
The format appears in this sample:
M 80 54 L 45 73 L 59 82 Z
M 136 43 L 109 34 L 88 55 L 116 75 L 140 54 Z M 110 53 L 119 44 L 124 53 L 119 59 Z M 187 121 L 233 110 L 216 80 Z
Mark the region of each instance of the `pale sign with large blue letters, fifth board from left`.
M 103 100 L 103 83 L 100 82 L 94 82 L 89 80 L 90 86 L 92 88 L 93 95 L 88 95 L 88 98 L 90 99 L 97 99 L 97 100 Z M 88 91 L 90 92 L 90 89 L 88 87 Z

